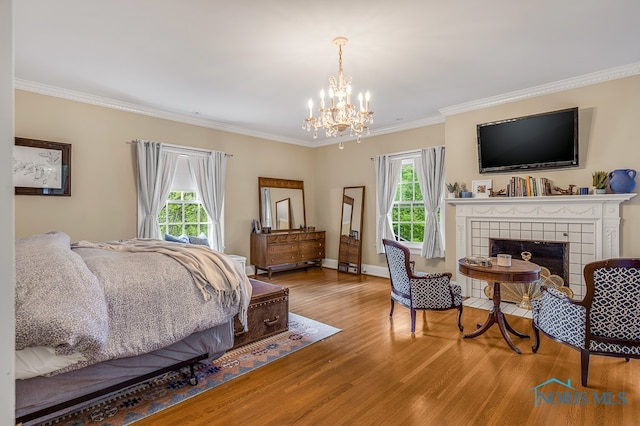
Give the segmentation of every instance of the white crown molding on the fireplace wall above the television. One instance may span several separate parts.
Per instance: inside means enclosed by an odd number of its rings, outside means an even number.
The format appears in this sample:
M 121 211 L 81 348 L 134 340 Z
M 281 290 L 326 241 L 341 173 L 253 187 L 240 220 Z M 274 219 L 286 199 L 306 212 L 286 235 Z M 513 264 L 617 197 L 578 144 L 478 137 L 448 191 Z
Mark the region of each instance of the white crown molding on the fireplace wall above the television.
M 565 80 L 560 80 L 554 83 L 543 84 L 540 86 L 531 87 L 529 89 L 517 90 L 515 92 L 505 93 L 503 95 L 493 96 L 490 98 L 484 98 L 476 101 L 453 105 L 450 107 L 440 108 L 438 111 L 440 112 L 440 114 L 447 117 L 450 115 L 461 114 L 463 112 L 502 105 L 509 102 L 521 101 L 537 96 L 549 95 L 551 93 L 576 89 L 578 87 L 590 86 L 592 84 L 603 83 L 605 81 L 632 77 L 638 74 L 640 74 L 640 62 L 624 65 L 617 68 L 610 68 L 608 70 L 598 71 L 591 74 L 584 74 L 578 77 L 567 78 Z

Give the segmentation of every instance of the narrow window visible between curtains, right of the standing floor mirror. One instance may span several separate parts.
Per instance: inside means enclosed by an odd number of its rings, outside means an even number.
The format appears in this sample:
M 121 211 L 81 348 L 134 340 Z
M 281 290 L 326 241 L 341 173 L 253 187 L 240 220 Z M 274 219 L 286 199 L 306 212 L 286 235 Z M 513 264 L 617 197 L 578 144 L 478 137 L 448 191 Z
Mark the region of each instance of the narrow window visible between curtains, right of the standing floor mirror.
M 424 202 L 413 158 L 402 160 L 400 181 L 391 209 L 391 225 L 398 241 L 416 243 L 415 247 L 424 241 Z

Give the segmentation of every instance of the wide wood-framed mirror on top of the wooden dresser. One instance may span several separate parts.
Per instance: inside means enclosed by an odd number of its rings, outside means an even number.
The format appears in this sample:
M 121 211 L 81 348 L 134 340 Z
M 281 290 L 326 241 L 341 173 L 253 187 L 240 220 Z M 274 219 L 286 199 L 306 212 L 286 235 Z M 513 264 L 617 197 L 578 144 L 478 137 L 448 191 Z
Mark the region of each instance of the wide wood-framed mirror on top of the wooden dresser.
M 263 230 L 288 232 L 307 227 L 303 181 L 259 177 L 258 201 Z

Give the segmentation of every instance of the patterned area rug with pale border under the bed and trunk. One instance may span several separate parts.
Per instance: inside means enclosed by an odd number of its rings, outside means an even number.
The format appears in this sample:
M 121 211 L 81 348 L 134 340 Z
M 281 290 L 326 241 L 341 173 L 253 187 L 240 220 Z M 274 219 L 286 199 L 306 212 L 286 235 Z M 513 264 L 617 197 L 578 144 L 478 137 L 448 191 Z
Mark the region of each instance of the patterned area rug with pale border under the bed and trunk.
M 222 357 L 195 368 L 198 383 L 189 383 L 185 368 L 108 395 L 97 402 L 29 425 L 121 426 L 129 425 L 178 404 L 201 392 L 276 361 L 299 349 L 336 334 L 340 329 L 289 313 L 289 330 L 233 349 Z

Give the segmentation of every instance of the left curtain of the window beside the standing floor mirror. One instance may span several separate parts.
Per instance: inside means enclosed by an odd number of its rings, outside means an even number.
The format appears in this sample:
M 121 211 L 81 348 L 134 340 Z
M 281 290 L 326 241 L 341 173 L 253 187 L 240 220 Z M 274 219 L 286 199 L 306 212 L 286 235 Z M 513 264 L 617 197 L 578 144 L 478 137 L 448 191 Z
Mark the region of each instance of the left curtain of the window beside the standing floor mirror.
M 382 239 L 395 240 L 391 226 L 391 208 L 396 196 L 402 161 L 393 160 L 389 155 L 373 158 L 376 172 L 376 251 L 384 253 Z

